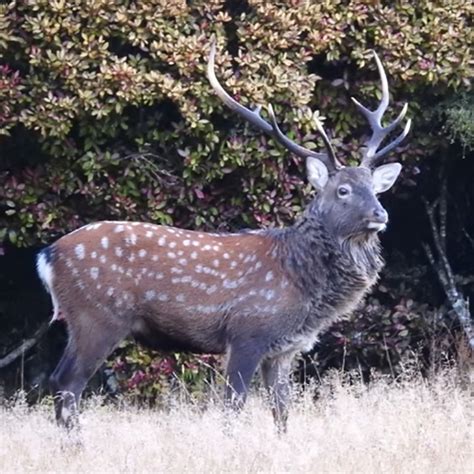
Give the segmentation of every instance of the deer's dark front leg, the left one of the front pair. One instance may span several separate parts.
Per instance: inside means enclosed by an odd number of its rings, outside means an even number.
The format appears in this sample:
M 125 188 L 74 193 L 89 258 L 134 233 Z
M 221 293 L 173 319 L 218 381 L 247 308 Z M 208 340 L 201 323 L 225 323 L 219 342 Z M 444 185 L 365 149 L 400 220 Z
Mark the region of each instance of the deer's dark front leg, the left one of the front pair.
M 225 404 L 240 410 L 247 398 L 252 377 L 257 370 L 262 353 L 248 345 L 232 345 L 226 368 Z

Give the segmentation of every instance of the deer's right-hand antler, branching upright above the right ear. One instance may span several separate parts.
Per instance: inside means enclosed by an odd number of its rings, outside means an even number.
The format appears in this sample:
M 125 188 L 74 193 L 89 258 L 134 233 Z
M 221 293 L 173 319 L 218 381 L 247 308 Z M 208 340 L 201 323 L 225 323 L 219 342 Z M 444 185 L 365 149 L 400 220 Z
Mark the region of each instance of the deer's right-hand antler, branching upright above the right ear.
M 377 63 L 377 69 L 380 75 L 380 82 L 382 83 L 382 99 L 380 100 L 379 106 L 377 107 L 377 109 L 372 111 L 369 110 L 367 107 L 363 106 L 357 99 L 352 97 L 352 101 L 358 108 L 359 112 L 366 117 L 372 129 L 372 136 L 366 142 L 366 150 L 361 162 L 361 166 L 367 167 L 375 166 L 376 162 L 383 155 L 386 155 L 390 150 L 398 146 L 401 141 L 407 136 L 411 126 L 411 120 L 408 120 L 403 132 L 393 142 L 389 143 L 387 146 L 377 151 L 377 148 L 380 146 L 385 137 L 390 132 L 392 132 L 392 130 L 394 130 L 395 127 L 397 127 L 404 119 L 405 114 L 408 110 L 408 104 L 405 104 L 403 106 L 400 114 L 393 122 L 391 122 L 386 127 L 382 126 L 382 117 L 389 105 L 388 80 L 380 58 L 378 57 L 375 51 L 372 51 L 372 53 L 374 55 L 375 62 Z

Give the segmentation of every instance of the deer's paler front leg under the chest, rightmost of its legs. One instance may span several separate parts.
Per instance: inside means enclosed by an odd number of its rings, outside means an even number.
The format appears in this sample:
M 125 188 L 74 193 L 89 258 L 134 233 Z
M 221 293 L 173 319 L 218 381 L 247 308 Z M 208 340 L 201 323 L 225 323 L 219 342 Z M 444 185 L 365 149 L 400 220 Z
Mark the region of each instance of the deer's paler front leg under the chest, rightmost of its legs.
M 293 353 L 265 359 L 262 362 L 262 378 L 271 402 L 275 424 L 280 433 L 286 433 L 288 402 L 290 395 L 290 372 Z

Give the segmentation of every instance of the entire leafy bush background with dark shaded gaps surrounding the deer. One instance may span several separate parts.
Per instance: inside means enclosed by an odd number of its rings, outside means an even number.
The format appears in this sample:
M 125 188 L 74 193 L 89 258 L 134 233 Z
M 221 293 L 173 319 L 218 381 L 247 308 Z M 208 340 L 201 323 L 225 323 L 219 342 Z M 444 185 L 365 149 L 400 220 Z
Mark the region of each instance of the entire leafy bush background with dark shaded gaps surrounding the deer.
M 7 392 L 44 389 L 64 344 L 55 327 L 1 366 L 47 320 L 34 274 L 42 245 L 90 221 L 130 219 L 205 230 L 289 225 L 309 199 L 295 157 L 225 110 L 205 77 L 246 105 L 272 103 L 282 128 L 322 143 L 313 113 L 346 163 L 367 129 L 350 97 L 374 104 L 370 49 L 389 74 L 395 115 L 414 119 L 394 158 L 404 174 L 384 203 L 387 268 L 376 291 L 331 328 L 299 378 L 329 367 L 396 375 L 466 357 L 445 303 L 426 206 L 447 188 L 446 254 L 461 294 L 474 285 L 472 57 L 469 2 L 31 0 L 0 3 L 0 378 Z M 431 248 L 430 247 L 430 248 Z M 464 351 L 464 352 L 463 352 Z M 154 400 L 181 374 L 201 393 L 209 358 L 125 344 L 102 371 L 112 391 Z M 107 382 L 108 381 L 108 382 Z M 101 381 L 99 380 L 99 383 Z M 36 392 L 33 392 L 36 393 Z

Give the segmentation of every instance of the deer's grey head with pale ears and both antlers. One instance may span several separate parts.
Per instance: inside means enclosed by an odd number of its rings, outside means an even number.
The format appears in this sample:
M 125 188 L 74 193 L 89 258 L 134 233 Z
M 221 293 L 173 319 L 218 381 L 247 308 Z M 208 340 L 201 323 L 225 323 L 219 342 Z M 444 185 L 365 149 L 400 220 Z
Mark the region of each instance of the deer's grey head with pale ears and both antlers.
M 314 120 L 326 147 L 324 153 L 304 148 L 285 136 L 278 126 L 271 105 L 268 106 L 271 122 L 267 122 L 261 116 L 261 106 L 250 110 L 239 104 L 217 80 L 214 66 L 215 54 L 216 46 L 213 42 L 208 62 L 208 77 L 214 91 L 224 104 L 260 130 L 271 135 L 289 151 L 306 160 L 308 180 L 317 191 L 317 196 L 308 207 L 307 214 L 316 213 L 318 217 L 322 217 L 325 226 L 341 240 L 351 237 L 359 238 L 361 235 L 370 237 L 384 230 L 388 215 L 377 199 L 377 195 L 392 187 L 402 166 L 400 163 L 378 165 L 381 158 L 397 147 L 407 136 L 411 120 L 407 120 L 404 130 L 396 139 L 379 149 L 384 139 L 402 122 L 408 107 L 405 104 L 393 122 L 386 127 L 382 125 L 383 114 L 389 105 L 388 81 L 375 51 L 373 55 L 381 78 L 382 99 L 377 109 L 372 111 L 352 98 L 372 129 L 372 135 L 364 144 L 363 158 L 357 167 L 345 167 L 341 164 L 328 135 L 317 118 Z

